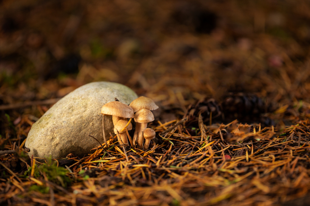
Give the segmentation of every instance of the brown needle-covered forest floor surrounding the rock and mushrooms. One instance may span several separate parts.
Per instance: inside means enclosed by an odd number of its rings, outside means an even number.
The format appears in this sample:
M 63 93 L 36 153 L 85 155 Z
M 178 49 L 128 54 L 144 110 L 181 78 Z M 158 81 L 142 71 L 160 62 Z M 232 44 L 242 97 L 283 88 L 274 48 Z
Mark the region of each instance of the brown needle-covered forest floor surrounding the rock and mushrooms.
M 0 0 L 0 26 L 1 205 L 310 204 L 308 1 Z M 29 158 L 94 81 L 156 102 L 150 149 Z

